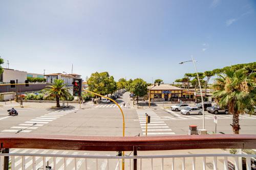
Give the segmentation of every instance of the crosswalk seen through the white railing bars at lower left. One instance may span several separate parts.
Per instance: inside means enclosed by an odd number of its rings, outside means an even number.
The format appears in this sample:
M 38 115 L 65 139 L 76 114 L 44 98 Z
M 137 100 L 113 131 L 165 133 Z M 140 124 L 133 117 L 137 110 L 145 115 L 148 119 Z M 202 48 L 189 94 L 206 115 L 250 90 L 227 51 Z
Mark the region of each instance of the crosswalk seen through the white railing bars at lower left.
M 63 150 L 41 150 L 41 149 L 10 149 L 11 154 L 50 154 L 50 155 L 83 155 L 83 156 L 98 156 L 97 153 L 93 152 L 84 152 L 84 151 L 63 151 Z M 115 152 L 113 153 L 115 154 Z M 105 156 L 111 156 L 109 153 L 102 154 Z M 106 169 L 106 166 L 109 166 L 111 169 L 115 169 L 117 162 L 112 164 L 106 159 L 97 160 L 97 165 L 93 159 L 84 159 L 84 158 L 63 158 L 63 157 L 32 157 L 32 156 L 11 156 L 9 161 L 11 162 L 11 169 L 43 169 L 44 163 L 49 163 L 49 166 L 52 169 L 75 169 L 74 165 L 76 164 L 76 169 L 96 169 L 97 166 L 101 169 Z M 0 168 L 1 169 L 1 168 Z

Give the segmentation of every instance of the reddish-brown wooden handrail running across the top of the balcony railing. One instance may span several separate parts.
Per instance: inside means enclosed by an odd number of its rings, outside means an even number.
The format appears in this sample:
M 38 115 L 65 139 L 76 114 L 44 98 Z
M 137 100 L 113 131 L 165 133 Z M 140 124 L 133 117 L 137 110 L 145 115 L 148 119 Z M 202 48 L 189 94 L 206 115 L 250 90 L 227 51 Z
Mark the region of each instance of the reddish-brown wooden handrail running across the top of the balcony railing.
M 3 148 L 80 151 L 138 151 L 187 149 L 255 149 L 256 135 L 173 135 L 140 137 L 0 135 Z

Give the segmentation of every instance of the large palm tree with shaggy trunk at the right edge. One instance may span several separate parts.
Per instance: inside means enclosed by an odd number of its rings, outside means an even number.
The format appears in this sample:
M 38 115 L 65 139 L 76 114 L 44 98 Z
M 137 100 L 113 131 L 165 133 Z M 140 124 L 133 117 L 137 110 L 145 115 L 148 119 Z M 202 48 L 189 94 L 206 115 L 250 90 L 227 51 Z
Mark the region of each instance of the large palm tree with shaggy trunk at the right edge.
M 219 75 L 216 79 L 214 97 L 221 107 L 228 107 L 233 114 L 232 130 L 239 134 L 239 114 L 245 110 L 253 111 L 256 104 L 256 72 L 249 73 L 246 69 L 234 71 L 231 68 L 225 70 L 225 76 Z

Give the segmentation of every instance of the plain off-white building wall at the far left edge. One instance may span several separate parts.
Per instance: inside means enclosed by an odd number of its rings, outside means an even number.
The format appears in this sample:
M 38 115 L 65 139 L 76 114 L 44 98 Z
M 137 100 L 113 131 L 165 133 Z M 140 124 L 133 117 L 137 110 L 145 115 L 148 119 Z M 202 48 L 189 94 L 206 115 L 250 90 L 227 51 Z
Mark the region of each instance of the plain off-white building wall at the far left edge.
M 10 80 L 18 80 L 18 83 L 25 83 L 27 80 L 27 71 L 4 69 L 3 82 L 10 83 Z

